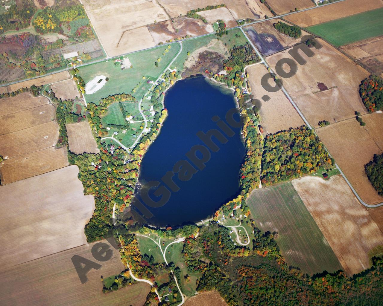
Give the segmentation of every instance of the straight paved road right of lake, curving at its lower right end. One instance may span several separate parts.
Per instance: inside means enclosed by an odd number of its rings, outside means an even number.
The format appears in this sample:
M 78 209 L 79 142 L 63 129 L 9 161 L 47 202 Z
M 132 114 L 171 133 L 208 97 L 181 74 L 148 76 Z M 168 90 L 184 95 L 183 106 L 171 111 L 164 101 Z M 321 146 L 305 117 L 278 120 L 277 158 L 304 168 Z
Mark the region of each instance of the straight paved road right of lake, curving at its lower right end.
M 342 1 L 345 1 L 345 0 L 342 0 Z M 334 3 L 334 2 L 333 2 Z M 308 9 L 306 9 L 308 10 Z M 270 72 L 272 73 L 275 73 L 272 69 L 272 67 L 270 67 L 270 65 L 268 65 L 268 63 L 266 62 L 266 60 L 264 59 L 264 57 L 262 57 L 262 54 L 260 54 L 259 50 L 257 49 L 257 47 L 255 47 L 255 45 L 253 44 L 253 42 L 251 41 L 251 39 L 249 39 L 249 37 L 247 37 L 245 31 L 241 28 L 241 31 L 242 33 L 245 35 L 245 37 L 247 38 L 247 40 L 249 41 L 250 45 L 253 47 L 253 49 L 255 50 L 255 52 L 257 53 L 257 55 L 260 57 L 260 59 L 262 60 L 261 63 L 263 63 L 265 65 L 266 68 L 270 68 Z M 299 67 L 298 67 L 299 69 Z M 275 75 L 277 75 L 277 73 L 275 73 Z M 303 113 L 301 112 L 301 110 L 299 109 L 298 105 L 296 105 L 296 103 L 294 102 L 293 98 L 291 98 L 290 94 L 287 92 L 287 90 L 285 89 L 285 87 L 282 86 L 282 91 L 283 93 L 285 94 L 285 96 L 288 98 L 288 100 L 290 101 L 290 103 L 293 105 L 293 107 L 296 109 L 296 111 L 298 112 L 299 116 L 301 116 L 303 122 L 314 132 L 314 134 L 316 136 L 318 136 L 315 132 L 315 130 L 313 129 L 313 127 L 309 124 L 308 120 L 306 119 L 306 117 L 304 117 Z M 326 148 L 326 146 L 325 146 Z M 329 155 L 331 156 L 331 153 L 329 152 L 329 150 L 327 150 L 326 148 L 326 151 L 329 153 Z M 349 180 L 347 179 L 347 177 L 345 176 L 345 174 L 343 173 L 342 169 L 339 168 L 338 164 L 335 163 L 335 166 L 336 168 L 339 170 L 340 174 L 342 174 L 343 178 L 345 179 L 345 181 L 347 182 L 347 185 L 349 185 L 350 189 L 352 190 L 352 192 L 354 192 L 354 195 L 355 197 L 357 197 L 357 199 L 359 200 L 360 203 L 362 203 L 365 207 L 369 207 L 369 208 L 375 208 L 375 207 L 380 207 L 383 205 L 383 202 L 381 203 L 378 203 L 378 204 L 375 204 L 375 205 L 371 205 L 371 204 L 367 204 L 365 203 L 361 198 L 360 196 L 358 195 L 358 193 L 356 192 L 356 190 L 354 189 L 354 187 L 352 187 L 351 183 L 349 182 Z

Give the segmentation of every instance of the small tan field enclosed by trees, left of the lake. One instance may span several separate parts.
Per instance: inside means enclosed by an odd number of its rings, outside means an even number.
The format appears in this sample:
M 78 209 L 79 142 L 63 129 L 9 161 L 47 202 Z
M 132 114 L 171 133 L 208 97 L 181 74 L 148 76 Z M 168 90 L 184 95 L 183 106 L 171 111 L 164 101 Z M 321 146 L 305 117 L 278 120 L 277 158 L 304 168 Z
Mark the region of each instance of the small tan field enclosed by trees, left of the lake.
M 88 121 L 67 124 L 69 150 L 75 154 L 98 153 L 97 143 L 92 135 Z

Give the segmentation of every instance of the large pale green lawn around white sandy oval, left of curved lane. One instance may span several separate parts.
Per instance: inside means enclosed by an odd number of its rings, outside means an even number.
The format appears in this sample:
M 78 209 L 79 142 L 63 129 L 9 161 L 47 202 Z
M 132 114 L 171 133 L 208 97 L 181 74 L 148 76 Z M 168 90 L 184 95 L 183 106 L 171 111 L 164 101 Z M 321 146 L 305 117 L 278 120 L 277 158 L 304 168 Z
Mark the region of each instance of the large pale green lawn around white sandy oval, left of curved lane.
M 128 57 L 133 68 L 121 70 L 120 65 L 115 65 L 114 59 L 79 67 L 79 74 L 85 81 L 85 84 L 97 75 L 105 75 L 109 78 L 109 81 L 100 90 L 93 94 L 85 94 L 87 102 L 98 104 L 101 98 L 113 94 L 131 93 L 134 88 L 136 88 L 136 91 L 132 94 L 137 100 L 140 100 L 152 86 L 152 84 L 146 83 L 147 80 L 157 80 L 180 50 L 178 43 L 171 44 L 171 48 L 168 49 L 169 51 L 162 55 L 167 46 L 162 45 L 154 49 L 129 54 Z M 158 63 L 158 67 L 155 67 L 154 62 L 159 57 L 161 60 Z M 145 77 L 145 79 L 142 77 Z

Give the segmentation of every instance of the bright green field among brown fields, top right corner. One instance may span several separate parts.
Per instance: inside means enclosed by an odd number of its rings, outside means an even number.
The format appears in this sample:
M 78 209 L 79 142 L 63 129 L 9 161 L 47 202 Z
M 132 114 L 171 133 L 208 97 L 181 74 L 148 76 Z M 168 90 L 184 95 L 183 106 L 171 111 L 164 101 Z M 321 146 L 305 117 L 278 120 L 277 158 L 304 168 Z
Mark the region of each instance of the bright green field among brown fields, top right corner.
M 336 47 L 383 35 L 383 8 L 309 26 L 307 29 Z

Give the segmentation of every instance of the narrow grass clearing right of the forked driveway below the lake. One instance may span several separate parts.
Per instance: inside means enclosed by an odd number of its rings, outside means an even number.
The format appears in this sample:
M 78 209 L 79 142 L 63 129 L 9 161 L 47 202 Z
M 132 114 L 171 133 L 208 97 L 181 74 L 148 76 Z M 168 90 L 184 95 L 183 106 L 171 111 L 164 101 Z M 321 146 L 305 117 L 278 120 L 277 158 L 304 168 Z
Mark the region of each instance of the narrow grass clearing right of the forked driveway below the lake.
M 168 243 L 165 243 L 165 245 L 167 244 Z M 174 262 L 175 266 L 181 269 L 181 284 L 179 285 L 181 286 L 182 293 L 190 296 L 195 293 L 197 288 L 197 278 L 200 278 L 202 274 L 188 272 L 185 261 L 182 258 L 182 248 L 183 243 L 173 243 L 170 247 L 167 248 L 165 255 L 168 262 Z M 184 277 L 187 274 L 190 276 L 190 280 L 188 282 Z

